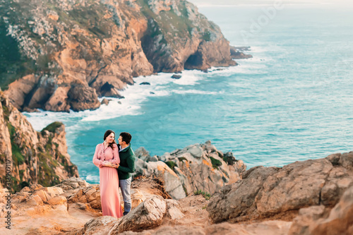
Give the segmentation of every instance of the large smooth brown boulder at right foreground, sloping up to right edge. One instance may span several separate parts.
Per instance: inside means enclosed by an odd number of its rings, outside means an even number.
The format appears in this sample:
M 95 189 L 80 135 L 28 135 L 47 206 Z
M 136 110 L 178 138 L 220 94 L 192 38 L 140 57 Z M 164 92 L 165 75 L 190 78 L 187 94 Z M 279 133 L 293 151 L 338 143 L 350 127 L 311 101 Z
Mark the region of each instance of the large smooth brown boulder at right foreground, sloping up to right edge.
M 336 205 L 353 185 L 353 152 L 294 162 L 285 167 L 253 167 L 243 179 L 223 187 L 207 210 L 213 222 L 239 222 L 290 213 L 311 205 Z

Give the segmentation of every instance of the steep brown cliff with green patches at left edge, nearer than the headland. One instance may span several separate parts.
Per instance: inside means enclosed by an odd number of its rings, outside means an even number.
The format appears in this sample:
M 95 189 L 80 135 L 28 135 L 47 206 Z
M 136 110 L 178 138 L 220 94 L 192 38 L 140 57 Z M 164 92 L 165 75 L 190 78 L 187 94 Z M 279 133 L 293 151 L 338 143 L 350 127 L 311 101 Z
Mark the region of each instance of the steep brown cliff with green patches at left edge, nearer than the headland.
M 0 180 L 5 187 L 6 167 L 11 168 L 11 188 L 30 183 L 52 186 L 78 176 L 67 153 L 63 123 L 54 122 L 37 132 L 0 91 Z

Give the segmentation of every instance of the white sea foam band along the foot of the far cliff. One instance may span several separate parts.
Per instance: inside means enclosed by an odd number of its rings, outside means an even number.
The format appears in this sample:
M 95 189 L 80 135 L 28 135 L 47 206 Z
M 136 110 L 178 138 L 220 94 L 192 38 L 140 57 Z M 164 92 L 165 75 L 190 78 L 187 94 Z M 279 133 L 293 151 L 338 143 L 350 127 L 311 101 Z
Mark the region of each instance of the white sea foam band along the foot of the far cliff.
M 212 75 L 219 74 L 222 76 L 232 76 L 237 73 L 256 73 L 255 71 L 261 71 L 261 66 L 254 61 L 259 59 L 253 58 L 248 59 L 252 61 L 241 61 L 239 66 L 224 67 L 224 68 L 210 68 Z M 255 68 L 254 68 L 255 66 Z M 189 86 L 193 86 L 199 83 L 200 80 L 210 77 L 210 73 L 203 73 L 202 71 L 183 71 L 179 73 L 181 78 L 172 78 L 172 73 L 159 73 L 152 76 L 140 76 L 134 78 L 134 85 L 127 85 L 126 89 L 121 91 L 121 95 L 124 99 L 112 98 L 112 97 L 101 97 L 100 102 L 106 98 L 110 100 L 108 105 L 102 104 L 99 109 L 96 110 L 85 110 L 81 112 L 69 113 L 64 112 L 47 112 L 40 111 L 38 113 L 25 113 L 28 116 L 28 121 L 32 123 L 35 130 L 40 131 L 45 126 L 49 125 L 53 121 L 61 121 L 66 125 L 66 131 L 68 133 L 75 133 L 77 128 L 82 126 L 82 122 L 90 121 L 101 121 L 107 119 L 114 119 L 119 116 L 125 115 L 139 115 L 140 107 L 148 97 L 162 97 L 167 95 L 175 94 L 203 94 L 203 95 L 215 95 L 217 92 L 208 92 L 203 90 L 187 89 Z M 149 85 L 141 84 L 148 83 Z M 175 86 L 179 87 L 180 90 L 175 89 Z M 173 88 L 172 88 L 173 87 Z M 171 89 L 172 88 L 172 89 Z

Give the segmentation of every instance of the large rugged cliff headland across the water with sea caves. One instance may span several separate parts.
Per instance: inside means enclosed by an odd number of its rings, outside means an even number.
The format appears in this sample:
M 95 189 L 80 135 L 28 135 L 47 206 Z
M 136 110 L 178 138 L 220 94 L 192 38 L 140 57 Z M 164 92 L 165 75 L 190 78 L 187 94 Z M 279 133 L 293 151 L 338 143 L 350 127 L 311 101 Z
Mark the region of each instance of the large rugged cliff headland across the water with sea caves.
M 0 4 L 0 85 L 20 111 L 97 109 L 136 76 L 236 64 L 220 28 L 184 0 Z

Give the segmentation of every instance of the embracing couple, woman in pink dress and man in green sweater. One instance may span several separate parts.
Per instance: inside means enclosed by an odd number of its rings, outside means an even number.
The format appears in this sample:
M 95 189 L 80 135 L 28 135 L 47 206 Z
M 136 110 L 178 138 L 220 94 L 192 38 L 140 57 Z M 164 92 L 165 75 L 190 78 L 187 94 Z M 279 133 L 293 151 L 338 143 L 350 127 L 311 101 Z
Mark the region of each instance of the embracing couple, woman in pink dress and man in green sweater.
M 93 163 L 100 168 L 100 200 L 102 215 L 119 218 L 131 210 L 131 175 L 135 171 L 135 154 L 131 149 L 131 135 L 119 134 L 119 143 L 115 143 L 115 133 L 104 133 L 104 142 L 95 147 Z M 124 198 L 124 214 L 120 206 L 120 194 Z

